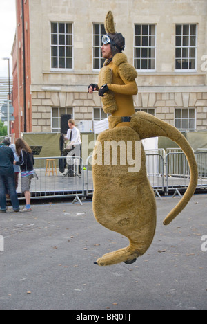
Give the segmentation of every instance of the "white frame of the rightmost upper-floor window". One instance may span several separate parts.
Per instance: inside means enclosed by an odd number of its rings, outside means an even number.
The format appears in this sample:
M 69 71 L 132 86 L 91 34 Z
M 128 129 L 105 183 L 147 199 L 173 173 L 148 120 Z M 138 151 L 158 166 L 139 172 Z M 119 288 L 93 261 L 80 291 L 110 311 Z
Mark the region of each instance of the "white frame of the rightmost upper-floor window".
M 181 26 L 181 35 L 177 35 L 176 33 L 176 28 L 177 26 Z M 188 34 L 184 34 L 184 26 L 188 26 Z M 190 26 L 195 26 L 195 35 L 194 34 L 190 34 Z M 181 72 L 181 73 L 189 73 L 189 72 L 196 72 L 197 71 L 197 31 L 198 31 L 198 25 L 197 24 L 175 24 L 175 62 L 174 62 L 174 66 L 175 66 L 175 72 Z M 188 36 L 188 46 L 183 46 L 183 37 L 184 35 Z M 176 46 L 176 40 L 177 37 L 181 36 L 181 46 Z M 195 46 L 190 46 L 190 36 L 193 37 L 195 36 Z M 176 50 L 177 48 L 181 48 L 181 57 L 177 57 L 176 55 Z M 180 60 L 184 60 L 183 56 L 182 56 L 182 52 L 183 52 L 183 48 L 188 48 L 188 57 L 184 57 L 184 59 L 188 60 L 188 64 L 190 64 L 190 59 L 195 60 L 195 69 L 176 69 L 176 60 L 178 60 L 180 58 Z M 195 57 L 190 57 L 190 48 L 195 48 Z

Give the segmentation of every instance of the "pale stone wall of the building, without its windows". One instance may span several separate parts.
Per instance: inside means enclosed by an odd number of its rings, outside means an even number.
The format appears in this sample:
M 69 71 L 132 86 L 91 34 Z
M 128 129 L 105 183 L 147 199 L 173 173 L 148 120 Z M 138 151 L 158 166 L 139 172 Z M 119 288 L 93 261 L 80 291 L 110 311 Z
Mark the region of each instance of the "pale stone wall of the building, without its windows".
M 207 77 L 201 68 L 207 54 L 207 1 L 106 0 L 87 1 L 87 6 L 85 0 L 49 2 L 50 6 L 48 1 L 30 1 L 32 132 L 51 132 L 52 107 L 73 107 L 76 124 L 92 120 L 93 109 L 101 107 L 97 93 L 89 95 L 87 89 L 99 73 L 92 69 L 92 24 L 103 23 L 108 10 L 114 14 L 117 31 L 126 37 L 124 53 L 131 64 L 134 25 L 157 26 L 156 68 L 150 73 L 138 71 L 135 108 L 153 108 L 155 116 L 171 125 L 175 108 L 195 108 L 196 130 L 207 129 Z M 51 21 L 74 25 L 72 71 L 50 69 Z M 196 71 L 175 71 L 175 24 L 199 26 Z

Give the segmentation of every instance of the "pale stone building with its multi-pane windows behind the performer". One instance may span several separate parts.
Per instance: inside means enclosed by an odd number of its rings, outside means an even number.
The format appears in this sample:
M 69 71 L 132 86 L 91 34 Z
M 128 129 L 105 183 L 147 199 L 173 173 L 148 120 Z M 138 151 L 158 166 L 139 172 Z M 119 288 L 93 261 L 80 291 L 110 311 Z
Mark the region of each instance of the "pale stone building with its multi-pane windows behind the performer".
M 100 120 L 97 82 L 112 10 L 137 69 L 135 109 L 181 131 L 207 129 L 206 0 L 30 0 L 32 132 L 60 132 L 61 114 Z

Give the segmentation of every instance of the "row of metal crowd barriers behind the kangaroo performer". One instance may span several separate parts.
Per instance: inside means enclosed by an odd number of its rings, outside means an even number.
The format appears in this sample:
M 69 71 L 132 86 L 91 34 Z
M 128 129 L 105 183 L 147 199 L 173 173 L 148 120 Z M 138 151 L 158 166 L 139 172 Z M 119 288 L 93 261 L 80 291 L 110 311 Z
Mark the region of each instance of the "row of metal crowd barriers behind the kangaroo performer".
M 207 190 L 207 150 L 194 152 L 199 172 L 197 190 Z M 92 197 L 92 156 L 88 156 L 86 165 L 78 156 L 35 157 L 32 179 L 32 199 L 52 197 L 75 197 L 81 199 Z M 183 152 L 164 150 L 148 150 L 146 152 L 146 170 L 148 179 L 155 195 L 181 196 L 190 182 L 188 161 Z M 72 173 L 71 173 L 72 172 Z M 17 188 L 19 199 L 24 199 L 21 193 L 21 181 Z

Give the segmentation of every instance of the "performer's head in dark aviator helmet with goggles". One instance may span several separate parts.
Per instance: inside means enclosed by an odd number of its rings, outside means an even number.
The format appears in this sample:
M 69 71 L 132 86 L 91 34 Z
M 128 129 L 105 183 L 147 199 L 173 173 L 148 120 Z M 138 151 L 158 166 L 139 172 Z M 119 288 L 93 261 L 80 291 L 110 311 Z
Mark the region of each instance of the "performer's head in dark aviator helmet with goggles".
M 108 33 L 102 37 L 103 46 L 101 46 L 102 56 L 106 59 L 121 53 L 125 48 L 125 39 L 121 33 Z

